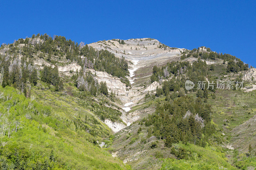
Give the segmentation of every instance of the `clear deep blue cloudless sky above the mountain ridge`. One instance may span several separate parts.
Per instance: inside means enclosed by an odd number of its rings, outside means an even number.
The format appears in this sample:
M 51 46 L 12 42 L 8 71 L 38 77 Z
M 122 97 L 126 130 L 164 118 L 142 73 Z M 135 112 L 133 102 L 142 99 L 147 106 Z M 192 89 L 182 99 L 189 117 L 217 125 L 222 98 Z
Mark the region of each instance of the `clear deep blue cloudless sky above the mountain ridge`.
M 255 1 L 1 1 L 0 16 L 1 44 L 37 33 L 87 44 L 150 37 L 256 66 Z

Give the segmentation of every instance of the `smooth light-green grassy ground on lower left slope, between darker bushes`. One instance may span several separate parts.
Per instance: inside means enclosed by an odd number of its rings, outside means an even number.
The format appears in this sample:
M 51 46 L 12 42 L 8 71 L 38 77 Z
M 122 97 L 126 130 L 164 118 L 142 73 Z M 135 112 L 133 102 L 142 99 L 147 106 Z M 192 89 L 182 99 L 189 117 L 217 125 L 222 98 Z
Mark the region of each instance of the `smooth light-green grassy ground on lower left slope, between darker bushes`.
M 59 109 L 58 106 L 52 107 L 52 113 L 48 116 L 44 116 L 43 112 L 38 112 L 38 114 L 32 114 L 34 110 L 40 110 L 45 106 L 49 106 L 47 101 L 58 97 L 58 93 L 51 93 L 49 91 L 44 91 L 45 98 L 41 100 L 44 105 L 37 104 L 36 101 L 30 101 L 26 99 L 23 94 L 17 94 L 16 90 L 11 87 L 1 88 L 1 92 L 4 92 L 5 96 L 16 96 L 12 100 L 18 103 L 11 107 L 9 116 L 14 117 L 16 120 L 20 121 L 20 129 L 17 132 L 11 133 L 11 138 L 6 135 L 1 137 L 2 144 L 7 142 L 4 147 L 1 147 L 2 156 L 8 155 L 11 152 L 10 148 L 16 149 L 16 152 L 21 152 L 25 150 L 28 155 L 39 155 L 41 157 L 49 158 L 51 150 L 59 162 L 64 162 L 66 168 L 71 169 L 126 169 L 122 161 L 111 157 L 106 149 L 101 149 L 99 146 L 88 142 L 90 139 L 90 134 L 79 134 L 79 130 L 73 129 L 74 126 L 67 126 L 65 123 L 66 118 L 70 116 L 75 116 L 76 113 L 80 112 L 80 116 L 85 114 L 90 114 L 85 109 L 82 109 L 73 100 L 54 100 L 54 102 L 59 102 L 63 106 L 63 110 Z M 40 93 L 35 90 L 32 94 L 40 95 Z M 11 100 L 1 103 L 2 112 L 6 114 L 6 102 L 13 102 Z M 32 103 L 32 107 L 28 107 L 29 103 Z M 52 106 L 52 105 L 50 105 Z M 73 115 L 73 109 L 78 108 L 77 112 Z M 30 109 L 31 108 L 31 109 Z M 43 110 L 43 109 L 42 109 Z M 82 113 L 81 113 L 82 112 Z M 84 114 L 84 113 L 85 114 Z M 31 118 L 26 119 L 25 115 L 29 114 Z M 61 119 L 59 117 L 64 119 Z M 89 116 L 89 115 L 88 115 Z M 9 117 L 9 118 L 11 118 Z M 9 119 L 11 120 L 11 119 Z M 99 121 L 100 122 L 100 121 Z M 101 135 L 107 135 L 110 133 L 106 125 L 98 124 L 98 127 L 103 130 Z M 95 128 L 95 127 L 93 127 Z M 100 136 L 98 136 L 100 138 Z M 101 139 L 102 140 L 102 139 Z M 25 149 L 22 149 L 25 148 Z M 31 158 L 32 159 L 32 158 Z M 43 158 L 42 158 L 43 159 Z M 29 159 L 30 160 L 30 159 Z M 35 159 L 35 161 L 40 161 L 41 159 Z M 11 159 L 8 159 L 10 166 L 13 165 Z M 28 166 L 34 167 L 35 162 L 32 160 L 27 162 Z M 65 168 L 65 167 L 62 167 Z M 61 169 L 62 169 L 61 168 Z

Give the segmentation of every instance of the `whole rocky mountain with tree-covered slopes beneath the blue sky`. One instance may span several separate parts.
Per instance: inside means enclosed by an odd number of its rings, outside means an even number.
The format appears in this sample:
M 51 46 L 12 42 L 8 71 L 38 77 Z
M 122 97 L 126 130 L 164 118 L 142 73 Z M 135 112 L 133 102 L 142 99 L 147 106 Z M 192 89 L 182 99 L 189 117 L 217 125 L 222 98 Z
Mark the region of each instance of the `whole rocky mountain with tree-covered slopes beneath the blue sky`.
M 256 71 L 236 56 L 37 34 L 0 61 L 2 169 L 256 167 Z

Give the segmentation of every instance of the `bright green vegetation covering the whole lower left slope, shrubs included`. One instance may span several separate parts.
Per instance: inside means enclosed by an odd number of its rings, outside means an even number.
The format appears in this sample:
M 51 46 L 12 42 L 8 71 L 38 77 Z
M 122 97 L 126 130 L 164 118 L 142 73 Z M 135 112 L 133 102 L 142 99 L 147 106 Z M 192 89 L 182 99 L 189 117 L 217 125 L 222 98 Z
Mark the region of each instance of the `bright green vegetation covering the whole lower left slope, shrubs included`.
M 110 133 L 104 132 L 106 127 L 88 112 L 69 117 L 63 114 L 65 107 L 56 110 L 40 104 L 13 87 L 0 87 L 0 93 L 2 169 L 124 168 L 108 152 L 88 142 L 90 136 Z M 97 129 L 100 133 L 93 133 Z

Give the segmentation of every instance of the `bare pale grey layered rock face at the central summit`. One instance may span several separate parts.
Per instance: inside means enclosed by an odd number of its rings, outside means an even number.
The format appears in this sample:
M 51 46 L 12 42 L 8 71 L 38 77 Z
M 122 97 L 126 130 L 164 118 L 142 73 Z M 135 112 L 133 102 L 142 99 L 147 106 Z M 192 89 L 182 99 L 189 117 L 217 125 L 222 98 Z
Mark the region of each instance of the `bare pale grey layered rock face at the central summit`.
M 161 42 L 151 38 L 129 39 L 124 40 L 125 44 L 119 44 L 118 41 L 98 41 L 88 46 L 98 50 L 105 50 L 114 53 L 117 57 L 124 56 L 125 59 L 130 60 L 154 60 L 162 58 L 162 60 L 170 59 L 174 56 L 180 55 L 185 48 L 170 48 L 164 46 Z M 159 60 L 158 60 L 159 62 Z

